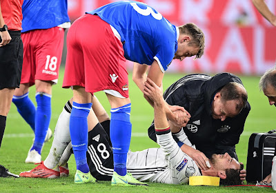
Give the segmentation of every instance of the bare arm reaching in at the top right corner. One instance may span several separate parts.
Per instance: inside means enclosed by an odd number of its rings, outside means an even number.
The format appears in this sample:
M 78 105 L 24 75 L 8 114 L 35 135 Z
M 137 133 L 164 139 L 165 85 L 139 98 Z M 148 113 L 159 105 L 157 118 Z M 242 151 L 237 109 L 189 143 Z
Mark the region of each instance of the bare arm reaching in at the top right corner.
M 264 0 L 252 0 L 257 10 L 266 18 L 273 26 L 276 26 L 276 16 L 271 12 Z

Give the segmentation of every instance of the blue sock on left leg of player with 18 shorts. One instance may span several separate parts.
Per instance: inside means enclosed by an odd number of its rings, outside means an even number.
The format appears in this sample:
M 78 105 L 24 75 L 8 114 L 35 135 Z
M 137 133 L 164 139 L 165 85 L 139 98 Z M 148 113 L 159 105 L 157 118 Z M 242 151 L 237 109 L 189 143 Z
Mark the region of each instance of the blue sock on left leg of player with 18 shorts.
M 22 96 L 12 96 L 12 102 L 17 106 L 17 111 L 23 119 L 30 125 L 34 132 L 35 107 L 34 103 L 28 97 L 29 92 Z

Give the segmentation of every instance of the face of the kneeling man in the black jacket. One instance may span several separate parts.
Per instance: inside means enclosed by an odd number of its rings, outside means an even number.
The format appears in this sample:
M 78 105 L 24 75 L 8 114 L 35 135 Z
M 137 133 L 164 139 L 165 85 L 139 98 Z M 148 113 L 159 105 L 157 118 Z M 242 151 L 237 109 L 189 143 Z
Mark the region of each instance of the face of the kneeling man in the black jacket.
M 222 101 L 221 95 L 218 92 L 215 94 L 214 101 L 211 105 L 211 112 L 213 119 L 220 119 L 224 121 L 227 117 L 234 117 L 239 114 L 239 111 L 236 109 L 238 101 Z

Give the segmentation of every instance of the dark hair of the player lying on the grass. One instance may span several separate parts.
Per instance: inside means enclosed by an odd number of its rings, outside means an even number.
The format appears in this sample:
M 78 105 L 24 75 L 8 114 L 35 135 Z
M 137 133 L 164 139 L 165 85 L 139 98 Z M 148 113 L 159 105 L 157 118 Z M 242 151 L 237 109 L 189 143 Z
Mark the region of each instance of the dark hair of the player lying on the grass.
M 239 172 L 244 169 L 244 165 L 241 164 L 238 170 L 227 169 L 226 170 L 226 179 L 220 179 L 219 185 L 242 185 Z

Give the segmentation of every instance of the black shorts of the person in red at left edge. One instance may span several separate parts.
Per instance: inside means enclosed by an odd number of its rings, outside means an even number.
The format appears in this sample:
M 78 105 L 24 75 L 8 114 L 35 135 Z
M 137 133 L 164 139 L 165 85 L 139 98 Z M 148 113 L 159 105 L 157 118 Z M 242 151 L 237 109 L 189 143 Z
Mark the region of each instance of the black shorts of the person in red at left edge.
M 23 63 L 21 32 L 8 32 L 12 40 L 7 45 L 0 47 L 0 90 L 3 88 L 19 88 L 21 80 Z

